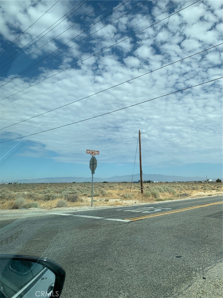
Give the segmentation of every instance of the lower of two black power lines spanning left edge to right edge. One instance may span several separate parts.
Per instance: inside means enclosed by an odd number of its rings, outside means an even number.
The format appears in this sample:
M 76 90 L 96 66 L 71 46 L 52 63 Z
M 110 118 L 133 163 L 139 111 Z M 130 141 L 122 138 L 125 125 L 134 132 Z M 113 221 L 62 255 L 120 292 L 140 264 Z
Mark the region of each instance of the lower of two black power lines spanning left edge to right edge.
M 148 101 L 155 100 L 155 99 L 158 99 L 158 98 L 161 98 L 161 97 L 165 97 L 165 96 L 168 96 L 168 95 L 171 95 L 171 94 L 174 94 L 174 93 L 177 93 L 177 92 L 181 92 L 181 91 L 184 91 L 184 90 L 187 90 L 187 89 L 191 89 L 191 88 L 194 88 L 194 87 L 197 87 L 197 86 L 201 86 L 201 85 L 204 85 L 204 84 L 207 84 L 207 83 L 210 83 L 210 82 L 213 82 L 213 81 L 222 79 L 222 78 L 223 78 L 223 77 L 219 77 L 219 78 L 217 78 L 217 79 L 213 79 L 213 80 L 210 80 L 210 81 L 207 81 L 207 82 L 204 82 L 204 83 L 200 83 L 200 84 L 197 84 L 197 85 L 194 85 L 194 86 L 190 86 L 190 87 L 187 87 L 187 88 L 178 90 L 178 91 L 174 91 L 174 92 L 171 92 L 171 93 L 168 93 L 168 94 L 165 94 L 165 95 L 161 95 L 161 96 L 158 96 L 158 97 L 149 99 L 149 100 L 145 100 L 145 101 L 142 101 L 141 103 L 135 103 L 134 105 L 129 105 L 129 106 L 127 106 L 127 107 L 120 108 L 120 109 L 117 109 L 117 110 L 114 110 L 114 111 L 111 111 L 111 112 L 107 112 L 107 113 L 104 113 L 104 114 L 100 114 L 100 115 L 98 115 L 98 116 L 94 116 L 94 117 L 90 117 L 90 118 L 87 118 L 87 119 L 84 119 L 84 120 L 79 120 L 79 121 L 72 122 L 72 123 L 69 123 L 69 124 L 65 124 L 65 125 L 61 125 L 61 126 L 58 126 L 58 127 L 50 128 L 50 129 L 47 129 L 47 130 L 45 130 L 45 131 L 39 131 L 39 132 L 34 133 L 34 134 L 29 134 L 29 135 L 26 135 L 26 136 L 20 136 L 20 137 L 18 137 L 18 138 L 10 139 L 10 140 L 7 140 L 7 141 L 2 141 L 2 142 L 0 142 L 0 143 L 5 143 L 5 142 L 14 141 L 14 140 L 17 140 L 17 139 L 25 138 L 25 137 L 27 137 L 27 136 L 33 136 L 33 135 L 35 135 L 35 134 L 41 134 L 41 133 L 46 132 L 46 131 L 51 131 L 51 130 L 54 130 L 54 129 L 57 129 L 57 128 L 62 128 L 62 127 L 68 126 L 68 125 L 72 125 L 72 124 L 76 124 L 76 123 L 84 122 L 84 121 L 87 121 L 87 120 L 90 120 L 90 119 L 94 119 L 94 118 L 98 118 L 98 117 L 100 117 L 100 116 L 104 116 L 104 115 L 108 115 L 108 114 L 111 114 L 111 113 L 114 113 L 114 112 L 117 112 L 117 111 L 121 111 L 121 110 L 124 110 L 124 109 L 126 109 L 126 108 L 133 107 L 133 106 L 135 106 L 135 105 L 140 105 L 140 104 L 142 104 L 142 103 L 147 103 Z

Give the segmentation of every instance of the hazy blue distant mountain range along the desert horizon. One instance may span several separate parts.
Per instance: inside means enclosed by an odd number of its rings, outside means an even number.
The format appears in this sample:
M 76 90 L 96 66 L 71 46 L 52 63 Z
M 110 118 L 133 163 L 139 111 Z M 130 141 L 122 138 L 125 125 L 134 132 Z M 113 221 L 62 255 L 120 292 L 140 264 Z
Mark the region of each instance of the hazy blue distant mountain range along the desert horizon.
M 143 174 L 143 180 L 151 180 L 158 182 L 173 182 L 173 181 L 200 181 L 205 180 L 205 177 L 183 177 L 183 176 L 167 176 L 167 175 L 155 175 L 155 174 Z M 133 181 L 139 181 L 140 174 L 133 175 Z M 208 178 L 216 180 L 216 178 Z M 221 178 L 220 178 L 221 179 Z M 66 182 L 91 182 L 92 177 L 48 177 L 38 179 L 18 179 L 9 182 L 19 183 L 66 183 Z M 94 182 L 131 182 L 132 175 L 126 176 L 113 176 L 109 178 L 97 178 L 94 177 Z

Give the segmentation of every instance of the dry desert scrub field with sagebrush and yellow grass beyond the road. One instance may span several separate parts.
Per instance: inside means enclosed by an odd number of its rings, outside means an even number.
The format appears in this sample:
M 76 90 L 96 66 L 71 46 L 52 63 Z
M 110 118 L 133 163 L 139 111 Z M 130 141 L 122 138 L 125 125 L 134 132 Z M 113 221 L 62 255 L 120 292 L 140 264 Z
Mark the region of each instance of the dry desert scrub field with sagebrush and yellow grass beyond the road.
M 222 194 L 222 183 L 94 183 L 94 206 L 116 206 Z M 131 187 L 131 192 L 130 192 Z M 89 206 L 91 183 L 1 184 L 0 209 Z

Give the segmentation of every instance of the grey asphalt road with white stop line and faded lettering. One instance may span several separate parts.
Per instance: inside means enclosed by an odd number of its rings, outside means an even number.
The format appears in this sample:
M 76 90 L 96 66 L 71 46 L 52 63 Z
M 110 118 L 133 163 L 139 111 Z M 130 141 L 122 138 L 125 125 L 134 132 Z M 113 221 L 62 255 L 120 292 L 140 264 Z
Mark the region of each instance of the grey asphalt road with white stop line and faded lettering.
M 213 204 L 220 201 L 12 217 L 0 221 L 0 250 L 59 263 L 66 271 L 63 298 L 179 297 L 196 279 L 201 294 L 191 297 L 215 297 L 205 292 L 205 274 L 222 260 L 222 204 Z

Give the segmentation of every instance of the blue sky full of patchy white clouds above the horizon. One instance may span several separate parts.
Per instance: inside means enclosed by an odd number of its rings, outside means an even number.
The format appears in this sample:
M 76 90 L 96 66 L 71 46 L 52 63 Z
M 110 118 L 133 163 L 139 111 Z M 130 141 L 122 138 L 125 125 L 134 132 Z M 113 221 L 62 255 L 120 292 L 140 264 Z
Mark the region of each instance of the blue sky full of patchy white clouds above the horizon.
M 223 176 L 222 1 L 0 8 L 1 182 Z

